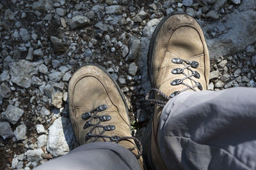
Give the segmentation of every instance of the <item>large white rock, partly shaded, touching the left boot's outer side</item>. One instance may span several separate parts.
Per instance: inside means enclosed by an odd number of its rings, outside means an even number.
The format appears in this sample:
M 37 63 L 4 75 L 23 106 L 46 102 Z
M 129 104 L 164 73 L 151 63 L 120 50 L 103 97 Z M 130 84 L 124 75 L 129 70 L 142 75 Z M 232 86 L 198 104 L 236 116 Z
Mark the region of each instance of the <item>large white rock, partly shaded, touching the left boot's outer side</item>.
M 67 154 L 77 146 L 68 118 L 60 117 L 49 127 L 47 151 L 53 157 Z

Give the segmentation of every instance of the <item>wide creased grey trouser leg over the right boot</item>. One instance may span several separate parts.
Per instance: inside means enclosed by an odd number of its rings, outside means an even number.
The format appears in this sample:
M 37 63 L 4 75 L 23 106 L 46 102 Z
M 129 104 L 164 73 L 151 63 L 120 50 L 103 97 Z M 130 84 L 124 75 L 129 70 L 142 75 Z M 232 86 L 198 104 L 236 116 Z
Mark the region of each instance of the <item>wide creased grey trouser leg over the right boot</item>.
M 170 169 L 256 169 L 256 89 L 182 92 L 157 138 Z

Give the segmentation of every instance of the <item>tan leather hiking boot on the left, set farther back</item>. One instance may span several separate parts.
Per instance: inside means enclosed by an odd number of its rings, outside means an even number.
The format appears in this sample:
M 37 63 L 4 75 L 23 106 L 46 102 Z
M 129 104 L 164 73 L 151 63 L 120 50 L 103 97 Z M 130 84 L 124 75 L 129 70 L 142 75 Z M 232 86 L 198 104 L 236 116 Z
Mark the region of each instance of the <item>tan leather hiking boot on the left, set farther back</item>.
M 134 140 L 138 139 L 131 136 L 124 94 L 105 69 L 95 64 L 80 67 L 69 81 L 68 106 L 79 145 L 118 143 L 131 150 L 143 167 L 141 146 L 137 148 Z

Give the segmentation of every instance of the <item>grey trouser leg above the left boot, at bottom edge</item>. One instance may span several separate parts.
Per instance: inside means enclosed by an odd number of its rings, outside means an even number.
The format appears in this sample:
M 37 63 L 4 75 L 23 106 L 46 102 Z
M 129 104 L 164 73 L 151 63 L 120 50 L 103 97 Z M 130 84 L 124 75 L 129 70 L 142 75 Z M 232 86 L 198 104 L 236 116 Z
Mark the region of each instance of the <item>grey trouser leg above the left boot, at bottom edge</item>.
M 45 162 L 36 170 L 77 169 L 141 169 L 134 155 L 116 143 L 88 143 L 72 150 L 67 155 Z

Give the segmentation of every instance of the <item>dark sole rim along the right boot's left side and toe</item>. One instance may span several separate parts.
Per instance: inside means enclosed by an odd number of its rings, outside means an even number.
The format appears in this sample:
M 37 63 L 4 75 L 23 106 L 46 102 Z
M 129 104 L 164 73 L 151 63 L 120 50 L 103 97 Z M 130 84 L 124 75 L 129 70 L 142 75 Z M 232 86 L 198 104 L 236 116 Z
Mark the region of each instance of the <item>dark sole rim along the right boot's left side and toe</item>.
M 154 33 L 152 34 L 152 38 L 150 39 L 150 44 L 148 46 L 148 60 L 147 60 L 147 65 L 148 65 L 148 76 L 149 76 L 149 80 L 150 80 L 150 84 L 151 84 L 151 87 L 154 88 L 154 79 L 153 79 L 153 74 L 152 74 L 152 64 L 153 64 L 153 51 L 154 51 L 154 45 L 156 43 L 156 37 L 157 37 L 157 34 L 159 32 L 159 29 L 162 27 L 162 25 L 164 24 L 164 22 L 172 17 L 173 15 L 188 15 L 186 13 L 183 13 L 183 12 L 180 12 L 180 11 L 175 11 L 173 13 L 171 13 L 170 15 L 167 15 L 166 17 L 164 17 L 160 22 L 159 24 L 157 25 Z M 189 17 L 191 17 L 190 15 L 188 15 Z

